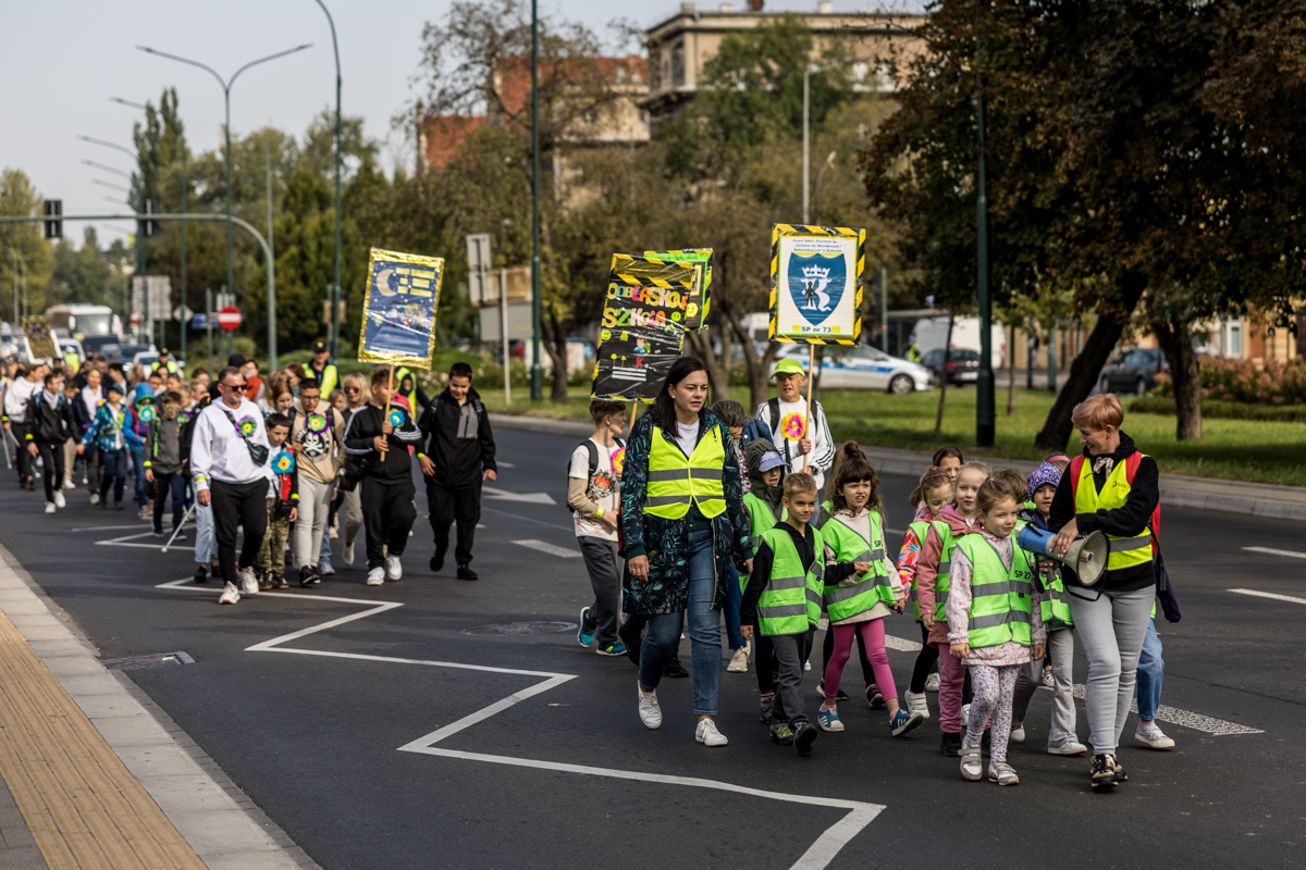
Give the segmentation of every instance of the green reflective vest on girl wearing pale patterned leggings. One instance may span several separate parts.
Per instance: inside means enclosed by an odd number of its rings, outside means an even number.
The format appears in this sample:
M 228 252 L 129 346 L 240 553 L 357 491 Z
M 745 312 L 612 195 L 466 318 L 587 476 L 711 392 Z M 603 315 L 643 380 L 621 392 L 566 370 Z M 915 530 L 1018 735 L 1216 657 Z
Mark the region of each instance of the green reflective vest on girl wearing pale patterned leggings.
M 1013 547 L 1008 571 L 983 535 L 963 535 L 956 545 L 974 566 L 968 625 L 970 646 L 995 647 L 1015 640 L 1028 647 L 1034 591 L 1029 556 Z

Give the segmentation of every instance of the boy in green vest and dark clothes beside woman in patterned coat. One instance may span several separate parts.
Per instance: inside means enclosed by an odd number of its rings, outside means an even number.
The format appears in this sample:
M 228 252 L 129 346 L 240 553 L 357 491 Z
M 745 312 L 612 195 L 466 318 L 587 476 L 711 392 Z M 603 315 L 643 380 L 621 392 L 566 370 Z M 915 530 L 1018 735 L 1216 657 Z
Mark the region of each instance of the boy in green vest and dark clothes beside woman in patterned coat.
M 803 715 L 803 661 L 820 621 L 825 566 L 825 541 L 810 524 L 816 480 L 802 471 L 789 475 L 782 501 L 785 519 L 761 533 L 739 617 L 744 638 L 752 638 L 756 622 L 774 651 L 778 691 L 771 738 L 806 755 L 812 751 L 816 727 Z

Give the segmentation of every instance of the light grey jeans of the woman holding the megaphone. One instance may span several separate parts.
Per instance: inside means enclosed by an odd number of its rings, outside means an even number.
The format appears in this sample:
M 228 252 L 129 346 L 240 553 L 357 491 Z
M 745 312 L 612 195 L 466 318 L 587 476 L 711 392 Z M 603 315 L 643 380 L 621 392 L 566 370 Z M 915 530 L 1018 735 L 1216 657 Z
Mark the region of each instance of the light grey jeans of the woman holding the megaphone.
M 1079 595 L 1085 595 L 1079 592 Z M 1102 592 L 1096 601 L 1068 595 L 1075 631 L 1088 655 L 1088 729 L 1094 755 L 1114 755 L 1134 702 L 1143 638 L 1152 621 L 1156 587 Z

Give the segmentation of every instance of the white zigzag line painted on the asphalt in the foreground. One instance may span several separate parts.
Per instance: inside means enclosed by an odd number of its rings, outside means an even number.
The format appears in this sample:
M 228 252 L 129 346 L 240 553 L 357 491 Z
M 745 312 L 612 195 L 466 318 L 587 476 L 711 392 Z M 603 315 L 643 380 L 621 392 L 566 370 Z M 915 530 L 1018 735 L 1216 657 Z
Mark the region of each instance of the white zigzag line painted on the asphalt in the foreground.
M 576 553 L 580 556 L 580 553 Z M 213 593 L 212 588 L 196 586 L 191 578 L 182 578 L 179 580 L 168 580 L 167 583 L 159 583 L 155 588 L 161 590 L 178 590 L 183 592 L 206 592 Z M 298 640 L 328 629 L 333 629 L 347 622 L 354 622 L 357 620 L 363 620 L 370 616 L 376 616 L 377 613 L 384 613 L 385 610 L 393 610 L 394 608 L 404 607 L 402 601 L 374 601 L 367 599 L 346 599 L 325 595 L 312 595 L 303 592 L 260 592 L 259 597 L 265 595 L 282 599 L 300 599 L 306 601 L 334 601 L 343 604 L 362 604 L 367 605 L 367 609 L 359 610 L 358 613 L 351 613 L 336 620 L 328 620 L 317 625 L 312 625 L 307 629 L 300 629 L 298 631 L 291 631 L 289 634 L 282 634 L 279 637 L 272 638 L 270 640 L 264 640 L 256 643 L 252 647 L 246 647 L 246 652 L 290 652 L 295 655 L 308 655 L 308 656 L 324 656 L 333 659 L 351 659 L 355 661 L 381 661 L 392 664 L 411 664 L 411 665 L 427 665 L 434 668 L 456 668 L 464 670 L 482 670 L 491 673 L 504 673 L 504 674 L 520 674 L 529 677 L 543 677 L 542 682 L 534 686 L 528 686 L 520 691 L 516 691 L 507 698 L 496 700 L 488 707 L 483 707 L 457 721 L 453 721 L 443 728 L 438 728 L 430 734 L 424 734 L 404 746 L 397 747 L 401 753 L 417 753 L 422 755 L 435 755 L 441 758 L 453 758 L 460 760 L 470 762 L 486 762 L 491 764 L 509 764 L 513 767 L 529 767 L 534 770 L 545 771 L 559 771 L 564 773 L 582 773 L 589 776 L 605 776 L 610 779 L 623 779 L 633 780 L 640 783 L 654 783 L 662 785 L 683 785 L 691 788 L 705 788 L 714 789 L 720 792 L 727 792 L 730 794 L 744 794 L 751 797 L 769 798 L 774 801 L 782 801 L 786 803 L 799 803 L 807 806 L 815 806 L 821 809 L 835 809 L 846 810 L 845 815 L 825 828 L 816 841 L 812 843 L 806 852 L 803 852 L 799 858 L 790 865 L 790 870 L 824 870 L 831 861 L 842 850 L 849 841 L 853 840 L 858 833 L 861 833 L 866 826 L 875 820 L 875 818 L 884 811 L 885 805 L 883 803 L 868 803 L 865 801 L 849 801 L 844 798 L 831 798 L 831 797 L 816 797 L 807 794 L 790 794 L 785 792 L 768 792 L 764 789 L 748 788 L 744 785 L 737 785 L 734 783 L 724 783 L 720 780 L 708 780 L 695 776 L 673 776 L 667 773 L 645 773 L 640 771 L 616 770 L 607 767 L 590 767 L 585 764 L 567 764 L 562 762 L 546 762 L 530 758 L 513 758 L 511 755 L 490 755 L 485 753 L 466 753 L 453 749 L 441 749 L 436 743 L 452 737 L 462 730 L 466 730 L 471 725 L 482 723 L 511 707 L 539 695 L 550 689 L 555 689 L 564 682 L 575 680 L 577 674 L 565 673 L 549 673 L 542 670 L 518 670 L 513 668 L 490 668 L 487 665 L 469 665 L 456 661 L 430 661 L 424 659 L 400 659 L 396 656 L 372 656 L 360 655 L 354 652 L 333 652 L 326 650 L 294 650 L 281 644 L 290 643 L 291 640 Z

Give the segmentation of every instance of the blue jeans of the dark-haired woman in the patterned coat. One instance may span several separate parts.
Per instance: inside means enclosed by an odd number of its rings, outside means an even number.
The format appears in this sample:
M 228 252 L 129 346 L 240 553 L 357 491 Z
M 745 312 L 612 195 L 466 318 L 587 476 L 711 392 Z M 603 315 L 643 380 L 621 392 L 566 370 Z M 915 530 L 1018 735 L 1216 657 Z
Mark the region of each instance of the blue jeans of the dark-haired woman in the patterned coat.
M 721 614 L 712 609 L 717 591 L 717 566 L 712 553 L 712 532 L 690 532 L 690 644 L 693 677 L 693 712 L 717 715 L 721 691 Z M 735 588 L 739 583 L 735 582 Z M 658 613 L 649 617 L 649 633 L 640 647 L 640 683 L 657 689 L 662 667 L 680 646 L 684 613 Z

